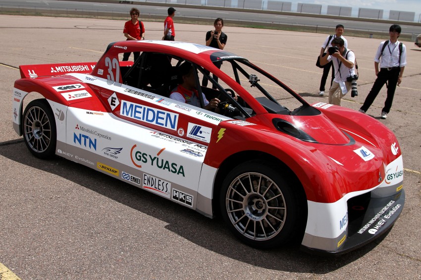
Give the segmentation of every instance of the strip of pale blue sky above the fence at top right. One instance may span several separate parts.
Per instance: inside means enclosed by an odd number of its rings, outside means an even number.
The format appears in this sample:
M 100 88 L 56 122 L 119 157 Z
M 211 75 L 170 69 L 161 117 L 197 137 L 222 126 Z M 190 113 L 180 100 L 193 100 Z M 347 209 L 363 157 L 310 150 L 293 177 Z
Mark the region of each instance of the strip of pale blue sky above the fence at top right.
M 416 16 L 421 13 L 421 0 L 283 0 L 285 2 L 300 2 L 321 4 L 323 6 L 348 6 L 355 8 L 370 8 L 382 10 L 410 11 Z

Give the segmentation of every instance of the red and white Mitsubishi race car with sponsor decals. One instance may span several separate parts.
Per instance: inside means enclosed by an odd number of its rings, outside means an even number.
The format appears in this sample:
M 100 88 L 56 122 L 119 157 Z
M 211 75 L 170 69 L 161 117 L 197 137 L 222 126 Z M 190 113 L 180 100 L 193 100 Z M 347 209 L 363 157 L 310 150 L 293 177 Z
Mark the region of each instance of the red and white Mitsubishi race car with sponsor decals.
M 137 61 L 121 61 L 133 51 Z M 183 61 L 193 64 L 200 107 L 168 97 Z M 124 41 L 98 63 L 20 72 L 13 128 L 32 154 L 67 158 L 207 217 L 219 213 L 251 246 L 298 241 L 341 254 L 387 232 L 403 209 L 402 153 L 387 127 L 351 109 L 310 105 L 233 53 Z M 32 93 L 44 98 L 24 109 Z M 204 109 L 203 96 L 217 97 L 219 108 Z

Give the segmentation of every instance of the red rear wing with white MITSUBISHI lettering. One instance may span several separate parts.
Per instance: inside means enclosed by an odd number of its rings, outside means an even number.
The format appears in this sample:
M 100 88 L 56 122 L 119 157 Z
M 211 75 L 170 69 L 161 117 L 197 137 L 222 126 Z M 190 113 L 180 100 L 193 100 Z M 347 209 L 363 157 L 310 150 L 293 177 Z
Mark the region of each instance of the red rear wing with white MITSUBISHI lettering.
M 21 78 L 36 78 L 42 76 L 57 76 L 67 73 L 90 74 L 97 62 L 59 63 L 59 64 L 33 64 L 20 65 Z M 120 61 L 120 66 L 131 66 L 133 61 Z

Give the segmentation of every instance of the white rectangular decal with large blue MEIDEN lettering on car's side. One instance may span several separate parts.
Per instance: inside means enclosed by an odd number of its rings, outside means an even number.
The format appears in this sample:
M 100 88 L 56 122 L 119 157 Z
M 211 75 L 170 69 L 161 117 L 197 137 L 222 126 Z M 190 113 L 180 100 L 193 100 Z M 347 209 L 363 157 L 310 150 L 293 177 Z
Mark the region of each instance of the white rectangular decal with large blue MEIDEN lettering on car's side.
M 121 100 L 120 115 L 174 131 L 177 130 L 178 114 L 158 108 Z

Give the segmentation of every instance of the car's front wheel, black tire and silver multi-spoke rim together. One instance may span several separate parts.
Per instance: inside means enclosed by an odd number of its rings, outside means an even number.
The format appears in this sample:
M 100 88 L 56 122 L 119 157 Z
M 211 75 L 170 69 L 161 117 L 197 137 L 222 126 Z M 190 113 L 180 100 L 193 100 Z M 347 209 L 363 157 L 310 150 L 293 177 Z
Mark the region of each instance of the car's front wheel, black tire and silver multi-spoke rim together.
M 280 169 L 251 160 L 235 167 L 222 183 L 222 218 L 250 246 L 274 248 L 303 237 L 307 222 L 303 188 Z

